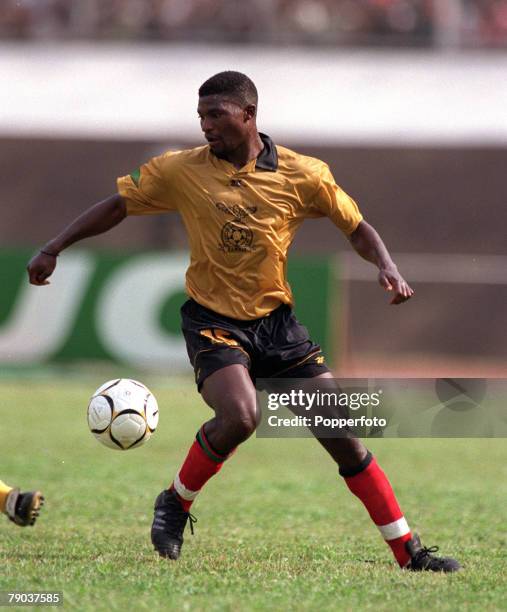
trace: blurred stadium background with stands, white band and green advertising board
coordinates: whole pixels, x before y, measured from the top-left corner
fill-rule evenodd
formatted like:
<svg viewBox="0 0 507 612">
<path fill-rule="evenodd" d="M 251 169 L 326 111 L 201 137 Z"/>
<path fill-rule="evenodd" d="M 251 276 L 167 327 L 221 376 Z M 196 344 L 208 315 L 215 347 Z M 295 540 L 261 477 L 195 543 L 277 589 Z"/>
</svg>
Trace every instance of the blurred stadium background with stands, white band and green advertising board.
<svg viewBox="0 0 507 612">
<path fill-rule="evenodd" d="M 0 0 L 0 363 L 189 372 L 176 216 L 127 219 L 24 267 L 166 148 L 202 139 L 196 92 L 224 69 L 259 126 L 326 160 L 416 297 L 390 308 L 326 220 L 292 249 L 297 313 L 347 376 L 504 376 L 507 0 Z M 128 334 L 125 333 L 128 330 Z"/>
</svg>

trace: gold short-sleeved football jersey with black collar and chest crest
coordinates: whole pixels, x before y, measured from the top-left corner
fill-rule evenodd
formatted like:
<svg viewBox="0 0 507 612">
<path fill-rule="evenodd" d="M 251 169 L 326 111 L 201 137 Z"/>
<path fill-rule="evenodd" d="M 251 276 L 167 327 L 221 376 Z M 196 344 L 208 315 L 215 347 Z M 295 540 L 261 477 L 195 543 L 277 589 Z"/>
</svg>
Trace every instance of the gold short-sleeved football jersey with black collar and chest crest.
<svg viewBox="0 0 507 612">
<path fill-rule="evenodd" d="M 205 145 L 168 151 L 118 179 L 129 215 L 179 212 L 188 295 L 241 320 L 292 304 L 287 251 L 305 219 L 327 216 L 347 235 L 362 220 L 327 164 L 261 138 L 259 157 L 239 170 Z"/>
</svg>

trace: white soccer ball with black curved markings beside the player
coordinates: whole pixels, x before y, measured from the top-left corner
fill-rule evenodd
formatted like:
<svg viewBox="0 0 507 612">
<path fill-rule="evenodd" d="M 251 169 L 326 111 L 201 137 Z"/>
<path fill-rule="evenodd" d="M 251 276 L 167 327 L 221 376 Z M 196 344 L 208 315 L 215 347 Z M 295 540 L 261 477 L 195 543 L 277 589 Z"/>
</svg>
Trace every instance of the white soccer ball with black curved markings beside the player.
<svg viewBox="0 0 507 612">
<path fill-rule="evenodd" d="M 99 442 L 116 450 L 141 446 L 157 424 L 157 400 L 145 385 L 130 378 L 104 383 L 88 405 L 90 431 Z"/>
</svg>

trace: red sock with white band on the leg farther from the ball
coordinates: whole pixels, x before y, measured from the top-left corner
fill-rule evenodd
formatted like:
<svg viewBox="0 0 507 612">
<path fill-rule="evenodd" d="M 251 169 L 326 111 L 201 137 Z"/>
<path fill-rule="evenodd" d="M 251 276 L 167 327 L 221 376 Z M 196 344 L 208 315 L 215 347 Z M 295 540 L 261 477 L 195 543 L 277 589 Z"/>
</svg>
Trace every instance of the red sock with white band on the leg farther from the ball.
<svg viewBox="0 0 507 612">
<path fill-rule="evenodd" d="M 359 471 L 358 471 L 359 470 Z M 340 470 L 348 488 L 363 502 L 396 561 L 404 567 L 410 561 L 405 542 L 412 538 L 394 491 L 375 458 L 368 453 L 356 470 Z"/>
</svg>

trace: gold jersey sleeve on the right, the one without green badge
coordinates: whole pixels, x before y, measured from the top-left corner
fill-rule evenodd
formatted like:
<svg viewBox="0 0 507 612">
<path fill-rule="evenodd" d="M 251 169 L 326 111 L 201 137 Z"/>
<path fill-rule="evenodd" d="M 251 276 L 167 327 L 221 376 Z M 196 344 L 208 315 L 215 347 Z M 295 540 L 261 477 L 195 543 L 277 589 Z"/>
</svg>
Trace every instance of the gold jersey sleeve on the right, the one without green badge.
<svg viewBox="0 0 507 612">
<path fill-rule="evenodd" d="M 336 184 L 327 164 L 320 166 L 318 178 L 312 212 L 318 217 L 329 217 L 347 236 L 352 234 L 363 220 L 357 204 Z"/>
</svg>

